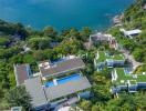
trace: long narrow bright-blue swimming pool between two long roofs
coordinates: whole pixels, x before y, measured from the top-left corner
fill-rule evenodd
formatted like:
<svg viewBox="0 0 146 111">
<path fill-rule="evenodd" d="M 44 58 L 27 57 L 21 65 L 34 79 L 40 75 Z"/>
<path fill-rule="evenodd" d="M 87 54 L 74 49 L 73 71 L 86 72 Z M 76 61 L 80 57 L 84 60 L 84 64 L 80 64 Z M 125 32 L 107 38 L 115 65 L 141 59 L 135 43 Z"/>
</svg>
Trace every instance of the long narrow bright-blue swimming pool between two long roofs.
<svg viewBox="0 0 146 111">
<path fill-rule="evenodd" d="M 80 73 L 75 73 L 75 74 L 72 74 L 72 75 L 69 75 L 69 77 L 56 80 L 56 83 L 58 84 L 63 84 L 63 83 L 66 83 L 66 82 L 70 82 L 70 81 L 79 80 L 79 79 L 81 79 Z M 53 81 L 50 81 L 50 82 L 44 83 L 44 85 L 45 87 L 54 87 L 54 83 L 53 83 Z"/>
</svg>

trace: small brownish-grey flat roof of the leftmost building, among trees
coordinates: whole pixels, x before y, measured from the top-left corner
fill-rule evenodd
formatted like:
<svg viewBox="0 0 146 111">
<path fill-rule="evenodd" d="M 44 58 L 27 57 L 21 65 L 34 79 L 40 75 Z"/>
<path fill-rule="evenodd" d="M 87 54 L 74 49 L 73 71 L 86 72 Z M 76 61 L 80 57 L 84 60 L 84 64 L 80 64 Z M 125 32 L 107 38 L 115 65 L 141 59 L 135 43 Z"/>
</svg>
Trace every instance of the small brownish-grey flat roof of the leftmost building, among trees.
<svg viewBox="0 0 146 111">
<path fill-rule="evenodd" d="M 30 65 L 29 64 L 14 65 L 14 74 L 15 74 L 17 85 L 24 83 L 24 80 L 29 79 Z"/>
</svg>

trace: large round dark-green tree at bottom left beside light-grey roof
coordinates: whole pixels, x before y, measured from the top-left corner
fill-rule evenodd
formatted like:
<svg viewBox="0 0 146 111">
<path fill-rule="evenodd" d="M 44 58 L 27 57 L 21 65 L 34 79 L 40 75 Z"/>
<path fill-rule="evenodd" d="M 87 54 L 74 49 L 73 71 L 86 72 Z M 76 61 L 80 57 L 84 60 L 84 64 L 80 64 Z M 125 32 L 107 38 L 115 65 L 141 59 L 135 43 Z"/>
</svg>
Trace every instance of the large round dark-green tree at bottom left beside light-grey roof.
<svg viewBox="0 0 146 111">
<path fill-rule="evenodd" d="M 32 109 L 31 97 L 22 85 L 11 89 L 6 94 L 6 99 L 10 107 L 22 107 L 25 111 Z"/>
</svg>

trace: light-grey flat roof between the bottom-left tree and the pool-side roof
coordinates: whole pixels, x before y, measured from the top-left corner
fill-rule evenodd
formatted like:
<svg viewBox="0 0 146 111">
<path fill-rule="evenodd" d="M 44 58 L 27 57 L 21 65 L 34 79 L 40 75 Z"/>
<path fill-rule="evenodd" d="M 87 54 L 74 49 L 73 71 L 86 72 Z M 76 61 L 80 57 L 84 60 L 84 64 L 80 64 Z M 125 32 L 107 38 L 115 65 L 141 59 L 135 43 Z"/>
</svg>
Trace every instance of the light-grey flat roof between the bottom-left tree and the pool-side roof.
<svg viewBox="0 0 146 111">
<path fill-rule="evenodd" d="M 45 93 L 41 83 L 41 78 L 32 78 L 24 81 L 25 89 L 32 98 L 33 107 L 46 104 Z"/>
</svg>

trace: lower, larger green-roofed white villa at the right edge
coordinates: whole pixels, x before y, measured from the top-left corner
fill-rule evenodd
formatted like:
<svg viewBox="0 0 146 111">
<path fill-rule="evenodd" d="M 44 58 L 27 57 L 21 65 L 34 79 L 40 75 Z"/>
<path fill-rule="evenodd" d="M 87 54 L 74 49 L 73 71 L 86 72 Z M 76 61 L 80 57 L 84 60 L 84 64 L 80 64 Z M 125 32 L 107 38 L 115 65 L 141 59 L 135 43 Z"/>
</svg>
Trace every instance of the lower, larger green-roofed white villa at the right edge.
<svg viewBox="0 0 146 111">
<path fill-rule="evenodd" d="M 121 91 L 136 92 L 146 89 L 146 73 L 132 74 L 124 68 L 115 68 L 112 72 L 112 93 Z"/>
</svg>

